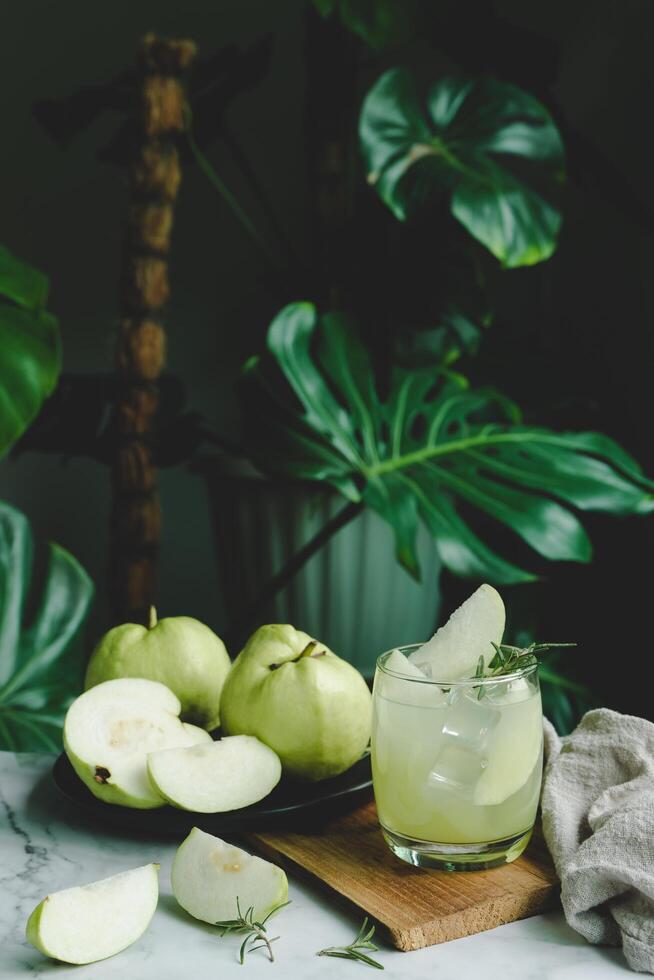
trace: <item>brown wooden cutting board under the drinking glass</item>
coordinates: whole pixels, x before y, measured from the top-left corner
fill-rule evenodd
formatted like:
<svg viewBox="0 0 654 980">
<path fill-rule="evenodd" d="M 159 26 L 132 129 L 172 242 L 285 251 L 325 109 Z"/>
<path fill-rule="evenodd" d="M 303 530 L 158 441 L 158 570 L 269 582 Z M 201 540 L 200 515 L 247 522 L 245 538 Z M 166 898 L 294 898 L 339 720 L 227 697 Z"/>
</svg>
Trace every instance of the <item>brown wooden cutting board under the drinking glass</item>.
<svg viewBox="0 0 654 980">
<path fill-rule="evenodd" d="M 558 881 L 539 831 L 513 864 L 475 872 L 424 871 L 394 857 L 374 803 L 310 833 L 247 836 L 265 857 L 308 874 L 372 916 L 402 950 L 483 932 L 558 904 Z"/>
</svg>

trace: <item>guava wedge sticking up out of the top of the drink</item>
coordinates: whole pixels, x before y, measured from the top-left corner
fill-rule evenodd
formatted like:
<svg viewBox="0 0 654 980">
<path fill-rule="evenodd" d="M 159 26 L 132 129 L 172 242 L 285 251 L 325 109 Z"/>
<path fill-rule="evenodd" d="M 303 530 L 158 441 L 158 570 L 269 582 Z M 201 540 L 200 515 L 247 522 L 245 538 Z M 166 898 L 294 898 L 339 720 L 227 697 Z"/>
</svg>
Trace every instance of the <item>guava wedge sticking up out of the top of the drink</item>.
<svg viewBox="0 0 654 980">
<path fill-rule="evenodd" d="M 481 585 L 409 660 L 436 681 L 474 677 L 480 657 L 486 667 L 493 659 L 493 643 L 502 642 L 505 619 L 499 592 Z"/>
</svg>

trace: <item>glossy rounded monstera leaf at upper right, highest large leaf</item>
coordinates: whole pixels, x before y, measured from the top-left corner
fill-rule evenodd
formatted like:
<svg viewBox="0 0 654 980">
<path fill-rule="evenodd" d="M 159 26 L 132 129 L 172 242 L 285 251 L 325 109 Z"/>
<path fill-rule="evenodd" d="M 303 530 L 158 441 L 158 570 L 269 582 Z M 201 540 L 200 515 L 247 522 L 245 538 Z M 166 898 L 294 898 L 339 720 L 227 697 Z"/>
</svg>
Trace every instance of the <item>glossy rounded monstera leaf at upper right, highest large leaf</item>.
<svg viewBox="0 0 654 980">
<path fill-rule="evenodd" d="M 368 93 L 360 136 L 369 182 L 404 220 L 447 195 L 453 216 L 506 267 L 556 248 L 561 137 L 548 111 L 515 85 L 447 77 L 423 91 L 408 70 Z"/>
</svg>

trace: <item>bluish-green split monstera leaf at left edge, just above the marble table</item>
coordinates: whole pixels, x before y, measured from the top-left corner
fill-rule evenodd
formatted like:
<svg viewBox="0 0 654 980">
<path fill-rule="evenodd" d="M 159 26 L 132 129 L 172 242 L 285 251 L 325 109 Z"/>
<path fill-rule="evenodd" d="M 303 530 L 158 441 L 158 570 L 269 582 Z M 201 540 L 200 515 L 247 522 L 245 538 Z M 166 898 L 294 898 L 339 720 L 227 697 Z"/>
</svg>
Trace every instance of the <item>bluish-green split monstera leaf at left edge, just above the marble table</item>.
<svg viewBox="0 0 654 980">
<path fill-rule="evenodd" d="M 28 614 L 32 532 L 0 503 L 0 749 L 55 751 L 63 716 L 81 688 L 75 643 L 93 585 L 81 565 L 51 544 L 40 601 Z"/>
</svg>

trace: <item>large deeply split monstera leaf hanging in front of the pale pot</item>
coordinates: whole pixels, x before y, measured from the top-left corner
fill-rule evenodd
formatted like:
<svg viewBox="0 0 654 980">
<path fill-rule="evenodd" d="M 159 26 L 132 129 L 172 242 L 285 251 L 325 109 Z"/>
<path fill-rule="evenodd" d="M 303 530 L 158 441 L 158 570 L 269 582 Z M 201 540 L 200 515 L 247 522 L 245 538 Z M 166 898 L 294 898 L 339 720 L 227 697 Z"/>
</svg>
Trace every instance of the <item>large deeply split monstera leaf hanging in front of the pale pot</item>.
<svg viewBox="0 0 654 980">
<path fill-rule="evenodd" d="M 546 559 L 587 562 L 591 543 L 575 510 L 654 509 L 654 484 L 611 439 L 525 426 L 508 399 L 470 390 L 447 369 L 396 368 L 382 398 L 343 315 L 319 318 L 311 304 L 292 304 L 271 324 L 268 351 L 243 379 L 256 461 L 372 507 L 415 576 L 420 520 L 448 568 L 499 584 L 534 575 L 489 546 L 469 512 L 505 525 Z"/>
</svg>

